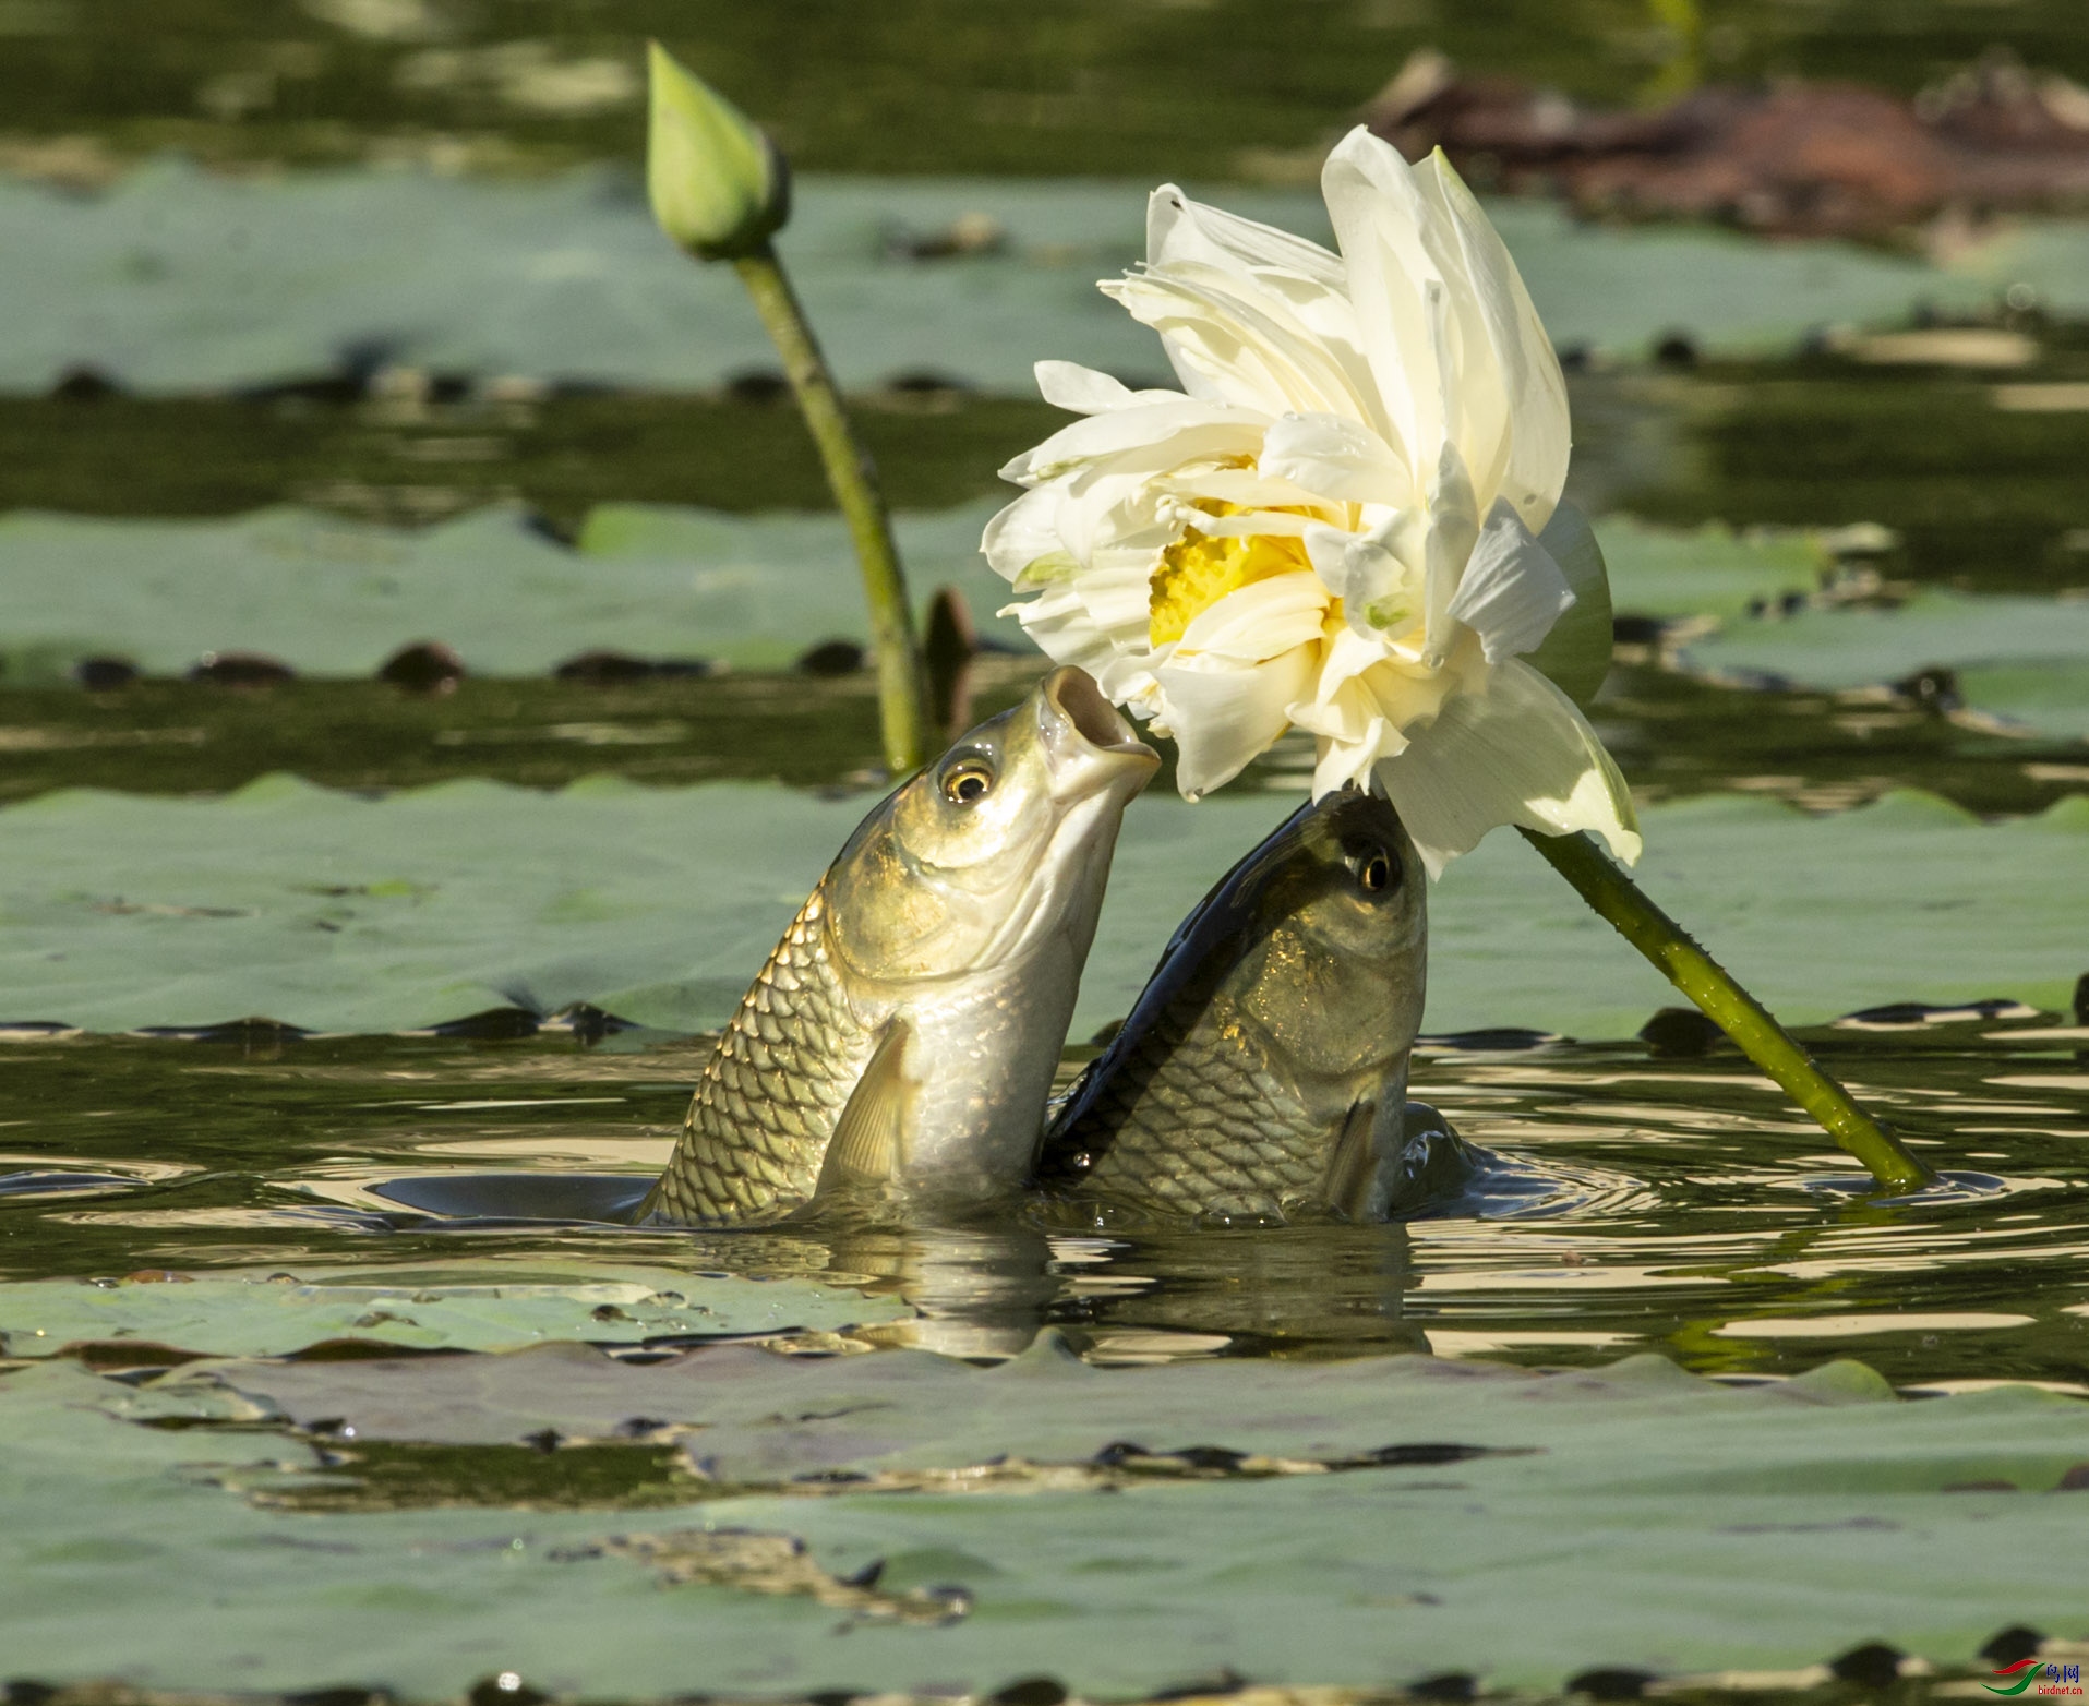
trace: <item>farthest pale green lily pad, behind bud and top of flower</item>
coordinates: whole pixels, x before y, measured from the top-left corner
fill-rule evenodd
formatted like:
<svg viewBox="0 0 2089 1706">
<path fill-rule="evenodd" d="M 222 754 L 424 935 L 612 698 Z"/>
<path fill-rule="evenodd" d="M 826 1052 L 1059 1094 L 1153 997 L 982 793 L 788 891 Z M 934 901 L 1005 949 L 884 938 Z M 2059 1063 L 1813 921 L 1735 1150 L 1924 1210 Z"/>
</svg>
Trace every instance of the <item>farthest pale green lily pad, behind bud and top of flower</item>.
<svg viewBox="0 0 2089 1706">
<path fill-rule="evenodd" d="M 1038 357 L 1161 372 L 1153 334 L 1095 292 L 1141 257 L 1149 188 L 808 173 L 781 242 L 844 384 L 940 374 L 1030 395 Z M 1312 190 L 1207 194 L 1327 240 Z M 967 217 L 1005 240 L 932 263 L 890 242 Z M 2020 248 L 1976 246 L 1945 269 L 1834 242 L 1583 226 L 1544 203 L 1498 203 L 1494 217 L 1552 338 L 1627 353 L 1675 332 L 1778 349 L 1916 305 L 1974 307 L 2026 263 Z M 2058 255 L 2079 244 L 2072 230 L 2051 238 Z M 13 390 L 77 365 L 155 393 L 343 361 L 641 388 L 777 365 L 731 271 L 689 265 L 639 186 L 604 169 L 535 184 L 397 169 L 234 180 L 161 161 L 98 196 L 0 182 L 0 294 L 15 307 L 0 336 Z"/>
</svg>

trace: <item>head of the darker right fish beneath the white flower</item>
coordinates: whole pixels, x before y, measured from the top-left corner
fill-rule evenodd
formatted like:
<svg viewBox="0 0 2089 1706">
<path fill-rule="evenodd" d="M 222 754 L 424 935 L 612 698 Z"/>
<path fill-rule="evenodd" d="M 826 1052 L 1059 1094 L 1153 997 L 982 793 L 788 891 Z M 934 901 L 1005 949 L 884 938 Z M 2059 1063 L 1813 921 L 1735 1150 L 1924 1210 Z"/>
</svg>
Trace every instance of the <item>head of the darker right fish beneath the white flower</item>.
<svg viewBox="0 0 2089 1706">
<path fill-rule="evenodd" d="M 1400 812 L 1343 789 L 1270 837 L 1247 881 L 1228 977 L 1281 1055 L 1316 1077 L 1383 1077 L 1423 1023 L 1427 871 Z"/>
</svg>

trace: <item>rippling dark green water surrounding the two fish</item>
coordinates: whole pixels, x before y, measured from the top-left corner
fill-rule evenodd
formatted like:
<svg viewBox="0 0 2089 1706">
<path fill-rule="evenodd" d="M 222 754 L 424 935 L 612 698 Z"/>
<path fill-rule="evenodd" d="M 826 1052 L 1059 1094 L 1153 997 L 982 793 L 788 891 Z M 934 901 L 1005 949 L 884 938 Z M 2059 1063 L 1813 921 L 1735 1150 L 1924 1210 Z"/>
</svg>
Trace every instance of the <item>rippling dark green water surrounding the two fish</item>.
<svg viewBox="0 0 2089 1706">
<path fill-rule="evenodd" d="M 1590 1366 L 1657 1349 L 1726 1376 L 1859 1355 L 1903 1387 L 2083 1391 L 2089 1032 L 1916 1021 L 1817 1046 L 1968 1182 L 1863 1201 L 1847 1159 L 1732 1055 L 1433 1048 L 1416 1094 L 1535 1169 L 1477 1213 L 689 1234 L 587 1222 L 629 1199 L 602 1176 L 637 1188 L 664 1163 L 700 1044 L 21 1040 L 0 1080 L 0 1272 L 585 1255 L 896 1295 L 919 1320 L 867 1343 L 971 1355 L 1057 1326 L 1101 1361 L 1433 1349 Z"/>
</svg>

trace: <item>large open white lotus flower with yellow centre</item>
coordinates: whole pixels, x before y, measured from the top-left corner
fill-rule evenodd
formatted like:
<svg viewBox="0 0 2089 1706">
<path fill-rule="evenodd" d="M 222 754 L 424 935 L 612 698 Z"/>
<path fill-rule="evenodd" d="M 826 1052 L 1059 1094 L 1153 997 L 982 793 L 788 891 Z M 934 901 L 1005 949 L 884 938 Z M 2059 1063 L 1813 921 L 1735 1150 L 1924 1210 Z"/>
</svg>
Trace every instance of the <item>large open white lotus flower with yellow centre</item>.
<svg viewBox="0 0 2089 1706">
<path fill-rule="evenodd" d="M 1003 470 L 1030 491 L 982 549 L 1051 658 L 1174 737 L 1189 798 L 1297 727 L 1314 796 L 1375 783 L 1433 873 L 1500 823 L 1636 860 L 1558 685 L 1602 681 L 1609 589 L 1515 261 L 1441 152 L 1356 129 L 1320 184 L 1339 255 L 1155 190 L 1147 265 L 1103 290 L 1182 390 L 1040 361 L 1086 420 Z"/>
</svg>

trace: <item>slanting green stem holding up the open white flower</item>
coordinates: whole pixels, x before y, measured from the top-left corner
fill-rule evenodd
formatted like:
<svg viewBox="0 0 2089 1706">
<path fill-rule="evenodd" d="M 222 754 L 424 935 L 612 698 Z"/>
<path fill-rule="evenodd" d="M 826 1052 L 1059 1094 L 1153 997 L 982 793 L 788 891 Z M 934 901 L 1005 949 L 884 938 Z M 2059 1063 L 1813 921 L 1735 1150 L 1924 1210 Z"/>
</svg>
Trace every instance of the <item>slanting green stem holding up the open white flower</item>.
<svg viewBox="0 0 2089 1706">
<path fill-rule="evenodd" d="M 1675 919 L 1654 906 L 1594 839 L 1588 835 L 1535 835 L 1529 829 L 1523 831 L 1523 839 L 1538 848 L 1604 923 L 1646 954 L 1677 990 L 1740 1044 L 1742 1055 L 1769 1073 L 1886 1190 L 1905 1192 L 1928 1184 L 1930 1169 L 1859 1109 L 1849 1098 L 1849 1090 L 1813 1065 L 1813 1059 L 1792 1042 L 1784 1025 L 1771 1019 L 1755 996 L 1692 942 Z"/>
</svg>

